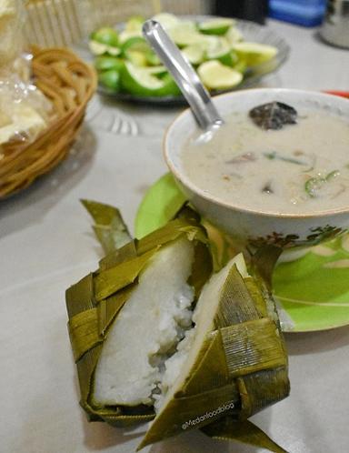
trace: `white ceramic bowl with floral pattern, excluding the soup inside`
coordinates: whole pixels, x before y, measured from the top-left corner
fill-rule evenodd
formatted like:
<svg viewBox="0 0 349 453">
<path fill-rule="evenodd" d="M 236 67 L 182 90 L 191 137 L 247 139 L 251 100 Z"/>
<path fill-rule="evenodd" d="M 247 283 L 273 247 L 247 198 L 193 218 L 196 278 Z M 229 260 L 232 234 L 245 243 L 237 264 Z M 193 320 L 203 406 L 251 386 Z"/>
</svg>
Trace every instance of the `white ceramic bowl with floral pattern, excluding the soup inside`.
<svg viewBox="0 0 349 453">
<path fill-rule="evenodd" d="M 223 118 L 231 112 L 248 112 L 266 102 L 284 102 L 295 109 L 314 109 L 347 117 L 349 101 L 339 96 L 284 88 L 249 89 L 214 97 Z M 311 246 L 343 233 L 349 227 L 348 206 L 331 211 L 302 215 L 270 213 L 224 203 L 194 186 L 184 174 L 181 151 L 185 141 L 197 130 L 190 109 L 178 116 L 165 134 L 165 161 L 192 205 L 206 219 L 225 232 L 254 247 L 273 243 L 282 247 Z M 329 150 L 329 152 L 331 152 Z M 349 160 L 349 149 L 348 149 Z"/>
</svg>

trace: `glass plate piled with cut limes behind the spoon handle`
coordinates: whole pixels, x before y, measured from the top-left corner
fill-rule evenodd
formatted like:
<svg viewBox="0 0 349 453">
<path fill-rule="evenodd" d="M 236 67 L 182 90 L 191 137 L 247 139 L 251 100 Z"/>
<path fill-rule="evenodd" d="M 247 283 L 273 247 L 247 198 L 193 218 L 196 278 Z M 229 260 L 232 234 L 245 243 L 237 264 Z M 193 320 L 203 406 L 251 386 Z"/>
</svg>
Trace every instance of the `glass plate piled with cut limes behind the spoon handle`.
<svg viewBox="0 0 349 453">
<path fill-rule="evenodd" d="M 253 86 L 286 60 L 289 46 L 267 27 L 228 17 L 153 17 L 164 26 L 212 95 Z M 152 104 L 184 103 L 178 86 L 142 35 L 142 17 L 89 36 L 99 92 Z"/>
</svg>

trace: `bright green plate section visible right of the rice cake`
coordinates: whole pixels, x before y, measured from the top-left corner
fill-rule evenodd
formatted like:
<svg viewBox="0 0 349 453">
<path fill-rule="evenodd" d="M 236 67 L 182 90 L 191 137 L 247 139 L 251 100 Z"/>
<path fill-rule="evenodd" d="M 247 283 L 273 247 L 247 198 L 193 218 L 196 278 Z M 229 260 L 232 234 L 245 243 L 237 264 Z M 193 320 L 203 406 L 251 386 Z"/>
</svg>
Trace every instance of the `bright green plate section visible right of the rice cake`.
<svg viewBox="0 0 349 453">
<path fill-rule="evenodd" d="M 293 321 L 286 330 L 349 324 L 349 235 L 337 237 L 274 272 L 274 296 Z"/>
</svg>

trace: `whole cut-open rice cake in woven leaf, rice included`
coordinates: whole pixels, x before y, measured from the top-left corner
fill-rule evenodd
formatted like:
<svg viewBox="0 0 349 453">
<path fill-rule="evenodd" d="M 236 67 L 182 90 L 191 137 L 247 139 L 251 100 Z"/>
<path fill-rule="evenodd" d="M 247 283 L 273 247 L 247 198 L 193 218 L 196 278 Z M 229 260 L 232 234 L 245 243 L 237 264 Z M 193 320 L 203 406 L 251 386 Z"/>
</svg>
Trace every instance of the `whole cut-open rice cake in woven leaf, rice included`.
<svg viewBox="0 0 349 453">
<path fill-rule="evenodd" d="M 248 419 L 289 394 L 268 260 L 246 267 L 238 254 L 217 267 L 216 247 L 187 206 L 137 240 L 115 207 L 84 205 L 105 250 L 99 267 L 66 290 L 88 418 L 147 422 L 139 449 L 201 429 L 284 452 Z"/>
</svg>

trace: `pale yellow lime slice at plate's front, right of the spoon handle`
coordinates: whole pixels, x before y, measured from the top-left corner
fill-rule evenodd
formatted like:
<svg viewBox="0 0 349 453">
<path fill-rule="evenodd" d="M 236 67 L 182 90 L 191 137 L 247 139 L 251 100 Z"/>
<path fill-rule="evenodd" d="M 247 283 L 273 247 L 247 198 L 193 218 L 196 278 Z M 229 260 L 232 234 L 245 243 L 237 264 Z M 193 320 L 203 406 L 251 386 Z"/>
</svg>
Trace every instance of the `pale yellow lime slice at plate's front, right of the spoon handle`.
<svg viewBox="0 0 349 453">
<path fill-rule="evenodd" d="M 224 90 L 239 85 L 243 80 L 240 72 L 217 60 L 206 61 L 197 68 L 197 73 L 208 89 Z"/>
</svg>

